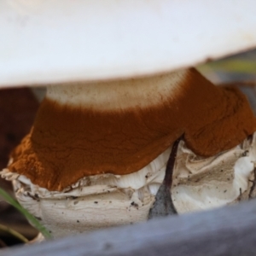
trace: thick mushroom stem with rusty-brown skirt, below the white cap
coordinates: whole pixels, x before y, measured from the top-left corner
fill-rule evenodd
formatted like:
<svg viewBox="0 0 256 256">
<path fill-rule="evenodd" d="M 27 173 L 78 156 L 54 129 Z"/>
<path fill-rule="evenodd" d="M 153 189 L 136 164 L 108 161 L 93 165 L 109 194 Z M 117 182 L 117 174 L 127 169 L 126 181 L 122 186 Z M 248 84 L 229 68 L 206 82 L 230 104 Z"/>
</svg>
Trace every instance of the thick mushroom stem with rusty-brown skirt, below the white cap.
<svg viewBox="0 0 256 256">
<path fill-rule="evenodd" d="M 32 131 L 1 175 L 59 237 L 246 198 L 253 131 L 246 97 L 195 69 L 49 85 Z"/>
</svg>

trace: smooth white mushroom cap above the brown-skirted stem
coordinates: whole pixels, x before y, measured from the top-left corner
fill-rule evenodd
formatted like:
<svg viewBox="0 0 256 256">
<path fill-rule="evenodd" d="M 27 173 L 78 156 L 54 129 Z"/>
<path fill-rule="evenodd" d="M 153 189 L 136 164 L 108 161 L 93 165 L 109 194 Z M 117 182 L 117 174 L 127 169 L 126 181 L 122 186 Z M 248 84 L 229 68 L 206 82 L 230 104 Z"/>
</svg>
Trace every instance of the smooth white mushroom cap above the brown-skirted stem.
<svg viewBox="0 0 256 256">
<path fill-rule="evenodd" d="M 164 73 L 256 44 L 254 0 L 0 3 L 1 86 Z"/>
</svg>

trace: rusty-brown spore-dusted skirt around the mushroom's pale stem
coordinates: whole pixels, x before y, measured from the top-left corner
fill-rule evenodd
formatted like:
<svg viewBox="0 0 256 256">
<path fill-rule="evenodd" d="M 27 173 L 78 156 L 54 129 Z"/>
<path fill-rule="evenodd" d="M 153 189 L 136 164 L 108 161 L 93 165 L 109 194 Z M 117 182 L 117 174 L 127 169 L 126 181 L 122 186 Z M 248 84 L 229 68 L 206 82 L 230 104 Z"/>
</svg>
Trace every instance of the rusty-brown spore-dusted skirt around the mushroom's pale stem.
<svg viewBox="0 0 256 256">
<path fill-rule="evenodd" d="M 195 154 L 211 156 L 253 131 L 256 119 L 239 90 L 215 86 L 190 69 L 175 96 L 144 108 L 83 108 L 46 97 L 12 152 L 9 171 L 61 191 L 85 176 L 137 172 L 181 135 Z"/>
</svg>

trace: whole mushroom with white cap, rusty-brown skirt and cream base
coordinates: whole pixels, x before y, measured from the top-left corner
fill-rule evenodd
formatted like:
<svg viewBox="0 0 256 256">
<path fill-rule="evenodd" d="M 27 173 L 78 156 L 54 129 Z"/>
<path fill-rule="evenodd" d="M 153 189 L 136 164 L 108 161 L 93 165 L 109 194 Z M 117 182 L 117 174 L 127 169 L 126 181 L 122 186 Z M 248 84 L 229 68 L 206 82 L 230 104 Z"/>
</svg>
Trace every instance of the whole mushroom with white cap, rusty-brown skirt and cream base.
<svg viewBox="0 0 256 256">
<path fill-rule="evenodd" d="M 241 3 L 217 2 L 229 9 L 226 15 L 234 21 Z M 20 204 L 54 237 L 147 220 L 165 179 L 172 144 L 179 137 L 169 188 L 178 213 L 253 195 L 249 179 L 254 175 L 256 120 L 246 97 L 236 88 L 217 87 L 188 68 L 209 54 L 217 58 L 256 44 L 251 1 L 242 3 L 248 12 L 239 26 L 230 28 L 230 21 L 219 16 L 218 22 L 224 24 L 211 31 L 218 39 L 229 28 L 229 35 L 237 37 L 229 47 L 217 39 L 211 46 L 206 30 L 222 11 L 216 1 L 204 6 L 191 1 L 206 22 L 195 19 L 189 25 L 184 16 L 176 15 L 183 6 L 175 1 L 158 2 L 159 14 L 147 1 L 133 3 L 132 9 L 126 1 L 109 6 L 101 2 L 100 9 L 93 1 L 56 1 L 59 9 L 54 15 L 49 1 L 9 3 L 0 3 L 5 21 L 0 26 L 11 29 L 2 45 L 6 47 L 17 29 L 20 45 L 31 52 L 18 46 L 9 53 L 0 82 L 47 84 L 47 94 L 31 132 L 12 152 L 1 175 L 13 181 Z M 186 12 L 194 17 L 191 10 Z M 26 19 L 6 23 L 12 15 Z M 132 26 L 137 15 L 141 23 Z M 108 22 L 103 22 L 104 17 Z M 145 29 L 148 19 L 153 38 Z M 184 47 L 183 28 L 189 31 L 196 24 L 202 26 L 191 35 L 191 46 Z M 241 37 L 240 26 L 250 39 Z M 26 45 L 25 39 L 39 29 L 43 34 Z M 58 40 L 56 45 L 54 32 L 67 41 Z M 82 32 L 86 36 L 80 38 Z M 200 32 L 207 36 L 198 44 L 195 38 Z M 106 44 L 98 43 L 100 36 Z M 157 43 L 161 48 L 155 50 Z M 204 45 L 200 53 L 197 44 Z M 42 65 L 45 57 L 49 65 Z"/>
</svg>

